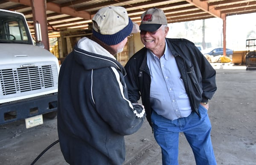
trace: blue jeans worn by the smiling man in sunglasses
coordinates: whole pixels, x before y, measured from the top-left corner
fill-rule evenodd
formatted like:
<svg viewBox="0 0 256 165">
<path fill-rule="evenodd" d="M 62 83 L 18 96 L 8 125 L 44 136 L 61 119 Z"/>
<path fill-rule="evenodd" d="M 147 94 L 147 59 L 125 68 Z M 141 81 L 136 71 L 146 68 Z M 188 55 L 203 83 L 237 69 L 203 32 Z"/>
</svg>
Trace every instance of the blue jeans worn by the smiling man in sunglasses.
<svg viewBox="0 0 256 165">
<path fill-rule="evenodd" d="M 152 112 L 154 138 L 162 149 L 163 165 L 178 165 L 179 132 L 192 148 L 197 165 L 216 165 L 210 137 L 211 123 L 207 109 L 199 106 L 201 118 L 192 112 L 188 117 L 169 120 Z"/>
</svg>

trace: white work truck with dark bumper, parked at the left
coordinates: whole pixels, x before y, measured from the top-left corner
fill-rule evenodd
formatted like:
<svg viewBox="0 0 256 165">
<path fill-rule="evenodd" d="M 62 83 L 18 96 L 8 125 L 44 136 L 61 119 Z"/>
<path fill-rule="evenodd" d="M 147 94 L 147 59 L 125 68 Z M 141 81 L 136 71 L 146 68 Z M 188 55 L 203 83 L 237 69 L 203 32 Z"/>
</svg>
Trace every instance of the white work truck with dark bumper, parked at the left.
<svg viewBox="0 0 256 165">
<path fill-rule="evenodd" d="M 36 41 L 22 13 L 0 9 L 0 125 L 25 119 L 30 128 L 57 115 L 58 59 Z"/>
</svg>

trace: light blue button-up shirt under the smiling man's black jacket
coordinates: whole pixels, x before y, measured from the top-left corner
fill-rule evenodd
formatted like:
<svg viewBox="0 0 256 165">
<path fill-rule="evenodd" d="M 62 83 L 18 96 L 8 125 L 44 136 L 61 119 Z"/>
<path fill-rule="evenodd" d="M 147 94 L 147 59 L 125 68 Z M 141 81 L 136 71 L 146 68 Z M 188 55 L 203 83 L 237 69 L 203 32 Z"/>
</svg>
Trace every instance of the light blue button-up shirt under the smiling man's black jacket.
<svg viewBox="0 0 256 165">
<path fill-rule="evenodd" d="M 169 48 L 166 47 L 160 59 L 148 50 L 147 64 L 151 75 L 151 108 L 169 120 L 189 116 L 192 112 L 189 97 Z"/>
</svg>

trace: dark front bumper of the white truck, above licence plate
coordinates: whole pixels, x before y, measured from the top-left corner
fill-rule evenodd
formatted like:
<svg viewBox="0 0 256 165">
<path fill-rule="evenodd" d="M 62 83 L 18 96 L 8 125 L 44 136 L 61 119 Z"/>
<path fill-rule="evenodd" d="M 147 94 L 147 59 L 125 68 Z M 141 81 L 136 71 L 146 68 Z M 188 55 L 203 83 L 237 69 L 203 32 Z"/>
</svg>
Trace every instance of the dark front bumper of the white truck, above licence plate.
<svg viewBox="0 0 256 165">
<path fill-rule="evenodd" d="M 57 110 L 58 93 L 0 104 L 0 125 Z"/>
</svg>

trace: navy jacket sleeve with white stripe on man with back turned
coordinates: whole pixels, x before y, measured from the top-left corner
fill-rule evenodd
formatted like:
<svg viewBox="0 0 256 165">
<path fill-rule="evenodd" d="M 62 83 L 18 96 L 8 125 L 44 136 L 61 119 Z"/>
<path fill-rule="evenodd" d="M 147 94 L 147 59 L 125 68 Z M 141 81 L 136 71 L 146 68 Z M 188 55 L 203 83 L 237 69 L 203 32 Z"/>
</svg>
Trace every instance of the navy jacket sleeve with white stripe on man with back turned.
<svg viewBox="0 0 256 165">
<path fill-rule="evenodd" d="M 145 109 L 128 100 L 122 74 L 113 67 L 107 67 L 93 70 L 92 76 L 92 98 L 102 119 L 119 134 L 136 132 L 144 121 Z"/>
</svg>

